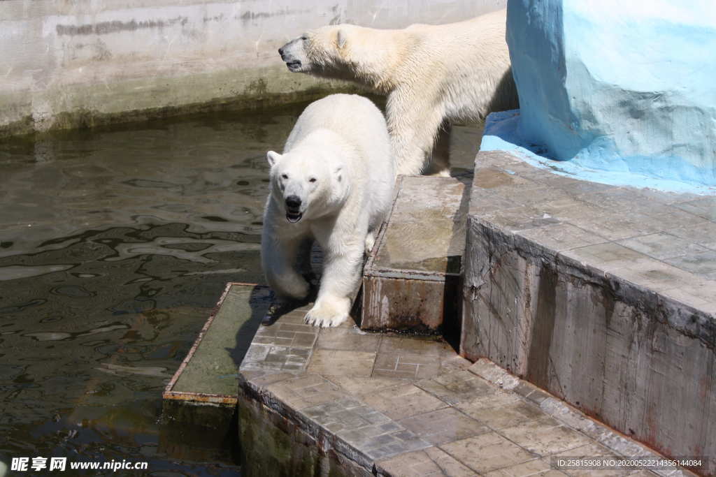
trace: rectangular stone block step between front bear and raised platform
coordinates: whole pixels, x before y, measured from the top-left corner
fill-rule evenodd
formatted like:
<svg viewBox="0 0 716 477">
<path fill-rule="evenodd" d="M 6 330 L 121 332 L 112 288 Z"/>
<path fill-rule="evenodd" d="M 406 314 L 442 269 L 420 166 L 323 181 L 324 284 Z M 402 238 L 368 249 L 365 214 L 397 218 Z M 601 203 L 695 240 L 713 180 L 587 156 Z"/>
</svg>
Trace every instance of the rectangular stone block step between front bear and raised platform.
<svg viewBox="0 0 716 477">
<path fill-rule="evenodd" d="M 459 330 L 465 191 L 452 177 L 399 177 L 363 271 L 362 329 Z"/>
</svg>

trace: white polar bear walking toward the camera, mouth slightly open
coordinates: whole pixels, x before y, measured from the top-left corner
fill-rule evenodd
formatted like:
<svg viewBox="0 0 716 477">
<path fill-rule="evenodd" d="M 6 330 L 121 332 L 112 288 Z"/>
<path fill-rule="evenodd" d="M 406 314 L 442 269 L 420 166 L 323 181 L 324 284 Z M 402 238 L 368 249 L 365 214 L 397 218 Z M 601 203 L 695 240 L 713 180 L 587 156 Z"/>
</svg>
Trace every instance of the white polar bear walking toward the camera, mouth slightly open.
<svg viewBox="0 0 716 477">
<path fill-rule="evenodd" d="M 306 323 L 337 326 L 348 318 L 363 254 L 393 197 L 395 161 L 382 113 L 364 97 L 333 94 L 309 104 L 286 140 L 269 151 L 261 261 L 279 299 L 301 300 L 309 284 L 301 263 L 316 240 L 324 256 L 316 303 Z"/>
</svg>

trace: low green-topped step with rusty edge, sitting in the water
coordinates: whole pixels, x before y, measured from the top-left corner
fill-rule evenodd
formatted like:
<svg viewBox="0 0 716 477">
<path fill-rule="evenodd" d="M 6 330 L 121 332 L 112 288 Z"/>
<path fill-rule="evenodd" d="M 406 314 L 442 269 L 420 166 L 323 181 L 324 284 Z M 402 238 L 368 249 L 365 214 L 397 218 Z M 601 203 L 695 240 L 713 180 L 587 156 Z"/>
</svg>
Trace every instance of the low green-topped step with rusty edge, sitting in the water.
<svg viewBox="0 0 716 477">
<path fill-rule="evenodd" d="M 270 290 L 229 283 L 163 393 L 160 447 L 175 458 L 236 461 L 236 380 Z"/>
</svg>

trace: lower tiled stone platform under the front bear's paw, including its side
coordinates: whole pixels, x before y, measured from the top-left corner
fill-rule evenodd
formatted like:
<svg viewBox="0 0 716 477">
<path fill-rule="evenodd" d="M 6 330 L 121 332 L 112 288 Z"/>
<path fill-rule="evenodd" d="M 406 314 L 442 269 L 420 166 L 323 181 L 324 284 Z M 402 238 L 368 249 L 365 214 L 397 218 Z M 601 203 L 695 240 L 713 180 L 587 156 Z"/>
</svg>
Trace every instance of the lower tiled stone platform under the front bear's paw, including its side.
<svg viewBox="0 0 716 477">
<path fill-rule="evenodd" d="M 554 456 L 654 456 L 486 360 L 442 341 L 304 325 L 262 327 L 241 363 L 242 473 L 591 475 Z M 680 475 L 661 471 L 660 475 Z M 647 471 L 594 475 L 654 475 Z"/>
</svg>

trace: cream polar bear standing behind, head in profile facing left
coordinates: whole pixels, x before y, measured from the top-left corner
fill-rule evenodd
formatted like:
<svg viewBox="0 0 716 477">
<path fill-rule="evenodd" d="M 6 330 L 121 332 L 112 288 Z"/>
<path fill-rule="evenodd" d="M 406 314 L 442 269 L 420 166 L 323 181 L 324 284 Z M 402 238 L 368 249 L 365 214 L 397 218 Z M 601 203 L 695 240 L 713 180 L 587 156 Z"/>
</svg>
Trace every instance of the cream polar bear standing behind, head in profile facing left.
<svg viewBox="0 0 716 477">
<path fill-rule="evenodd" d="M 387 94 L 398 174 L 449 175 L 450 122 L 518 107 L 505 10 L 399 30 L 324 26 L 279 54 L 291 72 L 349 79 Z"/>
</svg>

